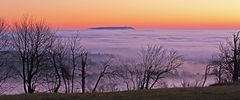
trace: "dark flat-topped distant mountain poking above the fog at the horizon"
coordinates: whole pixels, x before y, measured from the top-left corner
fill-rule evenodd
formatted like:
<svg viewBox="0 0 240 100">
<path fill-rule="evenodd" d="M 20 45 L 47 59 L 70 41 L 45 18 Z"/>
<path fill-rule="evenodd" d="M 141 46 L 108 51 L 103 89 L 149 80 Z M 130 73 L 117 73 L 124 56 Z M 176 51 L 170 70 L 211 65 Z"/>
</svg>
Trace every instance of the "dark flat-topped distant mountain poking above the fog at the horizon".
<svg viewBox="0 0 240 100">
<path fill-rule="evenodd" d="M 134 30 L 133 27 L 127 27 L 127 26 L 117 26 L 117 27 L 93 27 L 88 28 L 92 30 Z"/>
</svg>

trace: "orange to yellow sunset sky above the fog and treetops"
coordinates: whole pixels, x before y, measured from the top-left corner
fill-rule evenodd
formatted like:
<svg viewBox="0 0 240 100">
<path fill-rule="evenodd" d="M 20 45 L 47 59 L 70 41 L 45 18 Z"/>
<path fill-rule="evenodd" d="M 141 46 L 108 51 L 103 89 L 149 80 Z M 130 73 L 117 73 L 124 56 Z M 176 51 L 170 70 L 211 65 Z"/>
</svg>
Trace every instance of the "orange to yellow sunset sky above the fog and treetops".
<svg viewBox="0 0 240 100">
<path fill-rule="evenodd" d="M 55 28 L 240 28 L 240 0 L 0 0 L 0 17 L 24 14 Z"/>
</svg>

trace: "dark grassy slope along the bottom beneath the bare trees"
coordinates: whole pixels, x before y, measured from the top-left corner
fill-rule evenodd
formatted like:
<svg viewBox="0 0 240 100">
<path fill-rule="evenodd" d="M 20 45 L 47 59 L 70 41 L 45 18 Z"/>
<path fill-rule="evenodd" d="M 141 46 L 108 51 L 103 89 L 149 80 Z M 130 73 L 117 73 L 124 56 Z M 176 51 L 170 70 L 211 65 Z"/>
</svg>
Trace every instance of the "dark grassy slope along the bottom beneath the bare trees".
<svg viewBox="0 0 240 100">
<path fill-rule="evenodd" d="M 1 96 L 0 100 L 240 100 L 240 86 L 96 94 L 29 94 Z"/>
</svg>

